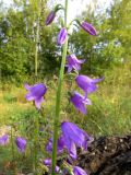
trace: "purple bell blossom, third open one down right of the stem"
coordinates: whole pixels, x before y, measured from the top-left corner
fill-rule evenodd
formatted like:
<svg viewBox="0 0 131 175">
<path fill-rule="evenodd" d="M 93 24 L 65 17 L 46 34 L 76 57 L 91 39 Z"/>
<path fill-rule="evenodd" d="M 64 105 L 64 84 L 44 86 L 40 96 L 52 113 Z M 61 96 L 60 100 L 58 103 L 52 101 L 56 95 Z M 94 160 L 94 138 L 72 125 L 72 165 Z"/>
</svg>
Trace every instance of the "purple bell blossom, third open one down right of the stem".
<svg viewBox="0 0 131 175">
<path fill-rule="evenodd" d="M 92 105 L 92 102 L 87 97 L 81 95 L 78 92 L 73 93 L 70 101 L 74 107 L 84 115 L 87 113 L 85 105 Z"/>
</svg>

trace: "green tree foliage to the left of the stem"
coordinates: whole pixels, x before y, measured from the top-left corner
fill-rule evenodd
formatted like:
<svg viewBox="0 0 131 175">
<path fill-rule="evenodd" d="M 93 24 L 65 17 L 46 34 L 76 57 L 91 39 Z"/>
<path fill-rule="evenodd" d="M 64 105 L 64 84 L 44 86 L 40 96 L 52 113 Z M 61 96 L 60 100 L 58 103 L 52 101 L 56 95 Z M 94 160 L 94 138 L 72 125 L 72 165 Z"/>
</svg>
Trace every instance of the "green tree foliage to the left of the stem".
<svg viewBox="0 0 131 175">
<path fill-rule="evenodd" d="M 50 66 L 53 71 L 59 65 L 57 48 L 49 42 L 55 34 L 51 32 L 52 28 L 45 28 L 46 1 L 40 4 L 40 31 L 36 43 L 39 3 L 40 1 L 37 3 L 29 1 L 29 4 L 24 0 L 14 1 L 13 8 L 8 9 L 5 15 L 1 7 L 0 69 L 3 80 L 17 83 L 25 80 L 25 77 L 33 77 L 36 47 L 39 57 L 38 72 L 50 73 Z"/>
</svg>

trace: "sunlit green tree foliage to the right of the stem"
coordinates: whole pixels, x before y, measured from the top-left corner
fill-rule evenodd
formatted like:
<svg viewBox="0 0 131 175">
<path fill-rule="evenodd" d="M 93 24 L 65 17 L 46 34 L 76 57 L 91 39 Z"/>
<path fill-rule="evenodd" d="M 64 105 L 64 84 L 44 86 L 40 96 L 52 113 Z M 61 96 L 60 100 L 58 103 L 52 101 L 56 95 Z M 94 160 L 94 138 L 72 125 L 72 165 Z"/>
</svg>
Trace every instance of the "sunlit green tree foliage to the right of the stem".
<svg viewBox="0 0 131 175">
<path fill-rule="evenodd" d="M 81 58 L 86 59 L 84 72 L 102 74 L 107 69 L 130 59 L 130 0 L 116 0 L 106 12 L 100 9 L 90 10 L 90 7 L 79 16 L 92 23 L 98 31 L 97 38 L 86 36 L 82 30 L 73 32 L 72 49 Z"/>
</svg>

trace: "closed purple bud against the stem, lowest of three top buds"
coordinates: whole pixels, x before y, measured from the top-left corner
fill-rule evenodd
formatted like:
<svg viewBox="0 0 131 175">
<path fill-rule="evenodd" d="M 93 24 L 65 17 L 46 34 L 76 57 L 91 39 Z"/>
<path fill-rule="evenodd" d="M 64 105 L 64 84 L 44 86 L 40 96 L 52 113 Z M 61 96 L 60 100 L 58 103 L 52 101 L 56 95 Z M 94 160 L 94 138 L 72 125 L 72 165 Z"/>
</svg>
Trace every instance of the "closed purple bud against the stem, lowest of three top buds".
<svg viewBox="0 0 131 175">
<path fill-rule="evenodd" d="M 68 36 L 68 32 L 67 30 L 63 27 L 60 30 L 59 34 L 58 34 L 58 37 L 57 37 L 57 44 L 59 46 L 63 45 L 66 43 L 66 38 Z"/>
</svg>

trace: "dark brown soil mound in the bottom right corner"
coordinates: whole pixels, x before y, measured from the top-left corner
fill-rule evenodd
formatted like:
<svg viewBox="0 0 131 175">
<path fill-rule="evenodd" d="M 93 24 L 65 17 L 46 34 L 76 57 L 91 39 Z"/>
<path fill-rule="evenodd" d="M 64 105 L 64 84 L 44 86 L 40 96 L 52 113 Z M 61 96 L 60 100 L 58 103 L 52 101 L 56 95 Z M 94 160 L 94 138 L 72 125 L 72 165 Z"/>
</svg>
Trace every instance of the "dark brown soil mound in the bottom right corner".
<svg viewBox="0 0 131 175">
<path fill-rule="evenodd" d="M 131 175 L 131 136 L 95 139 L 76 165 L 87 175 Z"/>
</svg>

